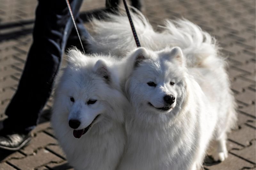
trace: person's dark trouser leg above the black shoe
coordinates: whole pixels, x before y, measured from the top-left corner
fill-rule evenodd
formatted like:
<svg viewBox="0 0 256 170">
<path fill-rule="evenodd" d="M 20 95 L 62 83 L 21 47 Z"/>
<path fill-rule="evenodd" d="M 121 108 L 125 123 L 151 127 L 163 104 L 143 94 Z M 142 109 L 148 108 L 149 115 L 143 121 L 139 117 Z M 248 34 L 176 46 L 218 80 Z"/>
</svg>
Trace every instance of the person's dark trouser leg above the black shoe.
<svg viewBox="0 0 256 170">
<path fill-rule="evenodd" d="M 78 11 L 82 0 L 69 2 L 74 18 L 81 21 Z M 87 33 L 82 22 L 78 22 L 77 27 L 80 34 Z M 35 127 L 38 114 L 51 94 L 68 38 L 76 36 L 70 35 L 72 29 L 65 0 L 38 1 L 33 43 L 17 91 L 5 111 L 8 118 L 3 122 L 4 128 L 28 132 Z"/>
</svg>

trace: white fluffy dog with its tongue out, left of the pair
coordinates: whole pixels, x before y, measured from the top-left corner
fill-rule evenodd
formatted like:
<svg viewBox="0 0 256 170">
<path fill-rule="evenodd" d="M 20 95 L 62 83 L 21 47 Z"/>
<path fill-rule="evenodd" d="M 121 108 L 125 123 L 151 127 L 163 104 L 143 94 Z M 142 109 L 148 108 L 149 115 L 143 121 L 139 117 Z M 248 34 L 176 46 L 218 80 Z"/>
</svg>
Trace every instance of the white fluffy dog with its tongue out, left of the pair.
<svg viewBox="0 0 256 170">
<path fill-rule="evenodd" d="M 52 127 L 75 169 L 114 170 L 125 144 L 124 111 L 129 106 L 118 79 L 118 61 L 68 53 L 52 108 Z"/>
</svg>

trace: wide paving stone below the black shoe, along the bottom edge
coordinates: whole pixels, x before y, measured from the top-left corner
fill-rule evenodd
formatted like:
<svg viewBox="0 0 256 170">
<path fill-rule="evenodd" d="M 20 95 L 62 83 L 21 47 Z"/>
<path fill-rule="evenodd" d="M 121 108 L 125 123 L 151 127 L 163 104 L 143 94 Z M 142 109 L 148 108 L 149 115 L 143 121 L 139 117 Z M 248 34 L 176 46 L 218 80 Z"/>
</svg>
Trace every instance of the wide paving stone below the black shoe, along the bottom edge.
<svg viewBox="0 0 256 170">
<path fill-rule="evenodd" d="M 35 167 L 43 166 L 50 162 L 61 162 L 61 158 L 52 154 L 51 152 L 41 149 L 35 154 L 29 155 L 23 159 L 12 159 L 8 161 L 10 164 L 18 167 L 19 169 L 32 170 Z"/>
</svg>

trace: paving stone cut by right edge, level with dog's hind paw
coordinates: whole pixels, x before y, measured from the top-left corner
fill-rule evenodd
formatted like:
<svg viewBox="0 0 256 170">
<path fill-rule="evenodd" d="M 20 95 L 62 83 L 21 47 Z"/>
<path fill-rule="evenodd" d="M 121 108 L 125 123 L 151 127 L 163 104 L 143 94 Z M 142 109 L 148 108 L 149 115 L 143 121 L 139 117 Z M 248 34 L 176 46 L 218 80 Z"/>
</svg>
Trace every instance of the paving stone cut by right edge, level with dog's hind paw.
<svg viewBox="0 0 256 170">
<path fill-rule="evenodd" d="M 253 140 L 251 142 L 251 145 L 248 146 L 248 147 L 245 147 L 244 149 L 241 149 L 241 150 L 231 150 L 230 152 L 231 153 L 234 153 L 246 160 L 249 160 L 251 161 L 252 163 L 255 164 L 255 152 L 251 152 L 251 151 L 256 151 L 256 148 L 255 148 L 255 140 Z"/>
</svg>

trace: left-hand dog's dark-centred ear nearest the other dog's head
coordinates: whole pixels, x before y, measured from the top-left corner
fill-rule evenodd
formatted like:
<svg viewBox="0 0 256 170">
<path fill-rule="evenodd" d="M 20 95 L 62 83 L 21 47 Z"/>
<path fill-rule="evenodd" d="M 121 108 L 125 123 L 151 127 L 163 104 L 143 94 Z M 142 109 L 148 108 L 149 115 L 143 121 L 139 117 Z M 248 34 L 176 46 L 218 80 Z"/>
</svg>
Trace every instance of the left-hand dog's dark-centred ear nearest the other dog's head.
<svg viewBox="0 0 256 170">
<path fill-rule="evenodd" d="M 98 60 L 93 68 L 94 72 L 101 76 L 102 78 L 105 78 L 106 80 L 110 80 L 110 72 L 108 70 L 108 65 L 104 60 Z"/>
</svg>

